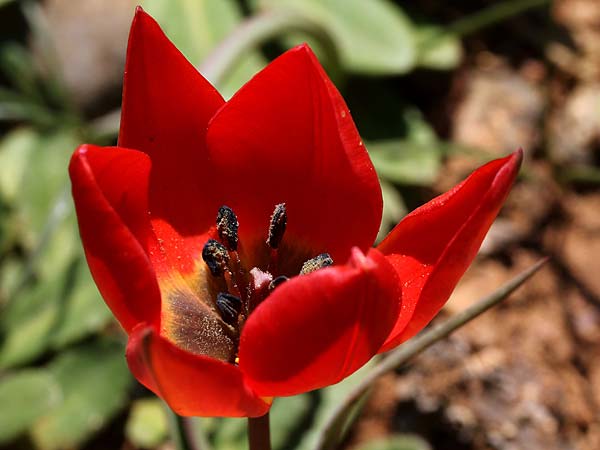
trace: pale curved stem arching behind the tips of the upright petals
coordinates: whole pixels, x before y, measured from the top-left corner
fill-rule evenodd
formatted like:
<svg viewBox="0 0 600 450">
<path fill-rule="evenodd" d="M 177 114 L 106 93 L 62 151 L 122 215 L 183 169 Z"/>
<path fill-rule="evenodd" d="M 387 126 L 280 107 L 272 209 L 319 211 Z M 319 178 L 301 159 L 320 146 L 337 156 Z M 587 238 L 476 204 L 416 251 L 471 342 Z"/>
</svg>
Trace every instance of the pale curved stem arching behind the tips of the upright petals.
<svg viewBox="0 0 600 450">
<path fill-rule="evenodd" d="M 242 22 L 200 65 L 200 72 L 219 86 L 231 69 L 248 51 L 289 31 L 300 31 L 315 37 L 326 57 L 337 62 L 336 45 L 318 22 L 294 10 L 265 11 Z"/>
</svg>

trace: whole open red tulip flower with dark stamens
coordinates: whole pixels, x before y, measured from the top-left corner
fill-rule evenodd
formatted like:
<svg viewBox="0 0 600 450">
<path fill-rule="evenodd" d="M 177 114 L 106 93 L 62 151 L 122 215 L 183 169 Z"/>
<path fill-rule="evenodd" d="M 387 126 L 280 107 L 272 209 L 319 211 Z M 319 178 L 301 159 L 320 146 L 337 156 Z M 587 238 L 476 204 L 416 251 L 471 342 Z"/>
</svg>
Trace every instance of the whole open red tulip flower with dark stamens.
<svg viewBox="0 0 600 450">
<path fill-rule="evenodd" d="M 260 416 L 422 329 L 473 260 L 516 152 L 377 247 L 377 174 L 306 45 L 219 93 L 138 9 L 117 147 L 70 164 L 92 275 L 135 377 L 177 413 Z"/>
</svg>

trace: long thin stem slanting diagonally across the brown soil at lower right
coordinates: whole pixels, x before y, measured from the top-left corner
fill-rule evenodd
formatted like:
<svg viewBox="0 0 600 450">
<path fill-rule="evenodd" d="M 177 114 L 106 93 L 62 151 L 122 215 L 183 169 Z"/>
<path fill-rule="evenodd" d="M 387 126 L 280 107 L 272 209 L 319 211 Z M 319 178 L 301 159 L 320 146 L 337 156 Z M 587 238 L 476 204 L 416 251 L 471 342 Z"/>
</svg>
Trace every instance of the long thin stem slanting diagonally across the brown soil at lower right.
<svg viewBox="0 0 600 450">
<path fill-rule="evenodd" d="M 538 261 L 529 269 L 520 273 L 512 280 L 501 286 L 491 295 L 482 298 L 464 311 L 454 315 L 440 325 L 421 333 L 419 336 L 408 341 L 403 346 L 398 347 L 396 350 L 388 353 L 388 356 L 384 357 L 383 360 L 377 366 L 375 366 L 375 368 L 371 370 L 371 372 L 369 372 L 352 391 L 350 391 L 348 396 L 346 396 L 342 402 L 337 405 L 336 409 L 325 423 L 322 431 L 319 433 L 319 438 L 315 449 L 331 449 L 335 446 L 335 444 L 337 444 L 337 442 L 339 442 L 341 436 L 338 436 L 336 431 L 344 428 L 344 424 L 347 422 L 347 418 L 349 413 L 352 411 L 354 404 L 360 400 L 361 397 L 363 397 L 373 382 L 375 382 L 380 376 L 402 366 L 414 356 L 421 353 L 423 350 L 445 338 L 456 329 L 462 327 L 467 322 L 473 320 L 475 317 L 490 309 L 492 306 L 500 303 L 525 281 L 527 281 L 533 274 L 535 274 L 547 261 L 548 258 Z"/>
</svg>

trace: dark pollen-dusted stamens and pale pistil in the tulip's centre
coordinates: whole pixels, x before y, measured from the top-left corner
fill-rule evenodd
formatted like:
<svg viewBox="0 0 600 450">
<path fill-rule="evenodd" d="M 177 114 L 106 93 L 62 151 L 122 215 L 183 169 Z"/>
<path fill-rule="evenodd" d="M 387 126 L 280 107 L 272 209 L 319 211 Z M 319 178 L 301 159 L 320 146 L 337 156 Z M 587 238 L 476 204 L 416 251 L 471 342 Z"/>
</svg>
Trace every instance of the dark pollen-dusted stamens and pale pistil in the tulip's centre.
<svg viewBox="0 0 600 450">
<path fill-rule="evenodd" d="M 236 214 L 228 206 L 221 206 L 217 214 L 217 239 L 209 239 L 202 249 L 204 260 L 210 276 L 219 281 L 226 290 L 217 293 L 214 307 L 223 322 L 227 324 L 239 339 L 244 322 L 250 313 L 278 286 L 288 280 L 288 275 L 281 273 L 280 245 L 284 239 L 287 226 L 285 203 L 275 205 L 269 228 L 266 233 L 266 244 L 270 250 L 265 267 L 252 267 L 247 270 L 240 260 L 239 222 Z M 322 253 L 305 261 L 298 275 L 306 275 L 315 270 L 333 264 L 331 256 Z"/>
</svg>

